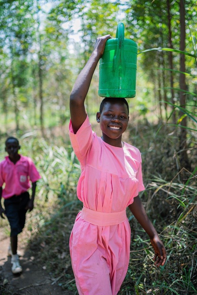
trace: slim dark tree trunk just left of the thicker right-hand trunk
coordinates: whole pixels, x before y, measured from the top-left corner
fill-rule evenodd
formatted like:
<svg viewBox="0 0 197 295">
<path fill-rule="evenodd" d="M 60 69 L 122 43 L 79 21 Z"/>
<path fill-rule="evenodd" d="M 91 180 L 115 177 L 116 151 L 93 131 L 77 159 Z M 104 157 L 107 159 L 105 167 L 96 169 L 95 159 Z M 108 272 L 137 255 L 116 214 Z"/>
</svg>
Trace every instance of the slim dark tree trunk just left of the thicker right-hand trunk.
<svg viewBox="0 0 197 295">
<path fill-rule="evenodd" d="M 173 49 L 172 46 L 172 30 L 171 30 L 171 14 L 170 14 L 170 0 L 167 0 L 167 13 L 168 13 L 168 42 L 169 47 Z M 173 59 L 172 59 L 172 51 L 169 51 L 169 65 L 170 69 L 173 70 Z M 170 87 L 171 87 L 171 103 L 174 104 L 174 81 L 173 81 L 173 72 L 170 71 Z M 176 113 L 175 108 L 172 106 L 172 123 L 176 124 Z"/>
</svg>

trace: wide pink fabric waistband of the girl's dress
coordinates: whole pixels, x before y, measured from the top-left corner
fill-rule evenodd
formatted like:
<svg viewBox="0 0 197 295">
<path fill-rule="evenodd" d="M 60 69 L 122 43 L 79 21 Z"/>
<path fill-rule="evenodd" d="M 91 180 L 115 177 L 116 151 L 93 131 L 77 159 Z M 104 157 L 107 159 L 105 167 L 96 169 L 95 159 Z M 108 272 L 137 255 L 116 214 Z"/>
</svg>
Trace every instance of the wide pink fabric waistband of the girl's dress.
<svg viewBox="0 0 197 295">
<path fill-rule="evenodd" d="M 99 226 L 119 224 L 127 219 L 126 209 L 120 212 L 105 213 L 83 207 L 81 216 L 85 221 Z"/>
</svg>

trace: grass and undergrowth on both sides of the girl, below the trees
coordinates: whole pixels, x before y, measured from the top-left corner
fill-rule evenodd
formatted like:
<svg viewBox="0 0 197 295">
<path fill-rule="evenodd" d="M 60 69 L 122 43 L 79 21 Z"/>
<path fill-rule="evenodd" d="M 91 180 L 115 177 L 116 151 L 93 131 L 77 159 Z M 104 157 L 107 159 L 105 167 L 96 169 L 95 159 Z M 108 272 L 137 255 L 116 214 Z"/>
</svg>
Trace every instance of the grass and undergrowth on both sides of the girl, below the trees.
<svg viewBox="0 0 197 295">
<path fill-rule="evenodd" d="M 131 256 L 120 295 L 196 294 L 196 150 L 188 135 L 191 171 L 178 168 L 175 134 L 170 126 L 146 120 L 129 125 L 127 140 L 139 147 L 146 190 L 140 197 L 167 250 L 167 263 L 156 268 L 153 249 L 140 225 L 128 212 L 131 224 Z M 169 134 L 172 134 L 169 136 Z M 36 206 L 27 219 L 28 247 L 40 265 L 61 278 L 62 289 L 78 294 L 71 268 L 69 236 L 82 203 L 76 197 L 79 163 L 69 140 L 55 142 L 38 135 L 21 139 L 22 154 L 29 155 L 41 173 Z M 0 156 L 4 156 L 3 144 Z M 1 226 L 3 225 L 1 221 Z"/>
</svg>

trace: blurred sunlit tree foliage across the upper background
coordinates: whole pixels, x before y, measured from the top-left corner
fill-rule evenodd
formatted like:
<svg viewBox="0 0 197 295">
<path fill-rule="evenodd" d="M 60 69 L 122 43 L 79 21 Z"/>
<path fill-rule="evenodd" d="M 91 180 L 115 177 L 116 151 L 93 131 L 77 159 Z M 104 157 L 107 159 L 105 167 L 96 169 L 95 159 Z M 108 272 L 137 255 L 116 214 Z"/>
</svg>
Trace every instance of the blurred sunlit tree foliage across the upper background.
<svg viewBox="0 0 197 295">
<path fill-rule="evenodd" d="M 188 101 L 196 102 L 196 6 L 185 1 L 186 72 Z M 97 36 L 115 37 L 118 22 L 125 37 L 138 43 L 137 109 L 144 115 L 153 105 L 166 117 L 169 108 L 159 101 L 179 101 L 178 74 L 180 19 L 177 2 L 170 3 L 172 43 L 169 48 L 167 1 L 1 1 L 1 99 L 4 124 L 1 131 L 41 125 L 41 106 L 46 127 L 64 124 L 68 98 L 76 75 L 84 66 Z M 159 50 L 154 50 L 158 48 Z M 161 48 L 165 50 L 161 50 Z M 174 97 L 171 94 L 169 54 L 173 53 Z M 186 75 L 186 74 L 185 74 Z M 147 89 L 146 95 L 144 89 Z M 87 109 L 99 103 L 98 69 L 92 79 Z M 42 91 L 43 99 L 40 99 Z M 193 95 L 191 95 L 193 94 Z M 159 96 L 160 95 L 160 96 Z M 138 101 L 139 100 L 139 101 Z M 142 106 L 143 111 L 141 113 Z M 31 112 L 33 110 L 33 112 Z M 18 112 L 18 114 L 16 114 Z M 21 115 L 19 114 L 21 113 Z M 148 113 L 148 112 L 147 112 Z M 24 119 L 24 117 L 26 119 Z M 53 122 L 50 118 L 54 118 Z M 161 119 L 161 118 L 160 118 Z M 171 118 L 172 119 L 172 118 Z M 20 123 L 20 124 L 19 124 Z M 174 123 L 174 122 L 173 122 Z"/>
</svg>

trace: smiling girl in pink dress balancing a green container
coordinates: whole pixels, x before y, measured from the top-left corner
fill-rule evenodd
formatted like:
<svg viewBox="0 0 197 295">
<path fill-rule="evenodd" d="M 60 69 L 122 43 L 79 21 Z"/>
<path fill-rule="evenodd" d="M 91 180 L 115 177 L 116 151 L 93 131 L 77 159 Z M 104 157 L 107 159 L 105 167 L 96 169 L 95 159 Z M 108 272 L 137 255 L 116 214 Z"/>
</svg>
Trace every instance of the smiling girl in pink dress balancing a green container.
<svg viewBox="0 0 197 295">
<path fill-rule="evenodd" d="M 140 152 L 122 141 L 129 119 L 126 99 L 102 101 L 97 112 L 102 137 L 92 131 L 84 107 L 92 75 L 109 38 L 97 38 L 70 96 L 69 135 L 81 164 L 77 196 L 83 202 L 71 232 L 70 254 L 80 295 L 115 295 L 120 290 L 130 255 L 126 207 L 150 237 L 154 264 L 159 267 L 166 261 L 165 247 L 138 196 L 144 190 Z"/>
</svg>

